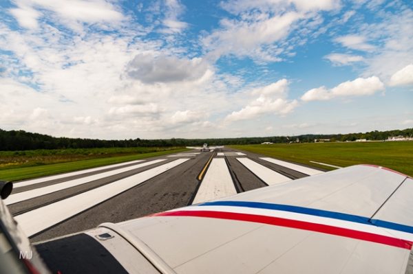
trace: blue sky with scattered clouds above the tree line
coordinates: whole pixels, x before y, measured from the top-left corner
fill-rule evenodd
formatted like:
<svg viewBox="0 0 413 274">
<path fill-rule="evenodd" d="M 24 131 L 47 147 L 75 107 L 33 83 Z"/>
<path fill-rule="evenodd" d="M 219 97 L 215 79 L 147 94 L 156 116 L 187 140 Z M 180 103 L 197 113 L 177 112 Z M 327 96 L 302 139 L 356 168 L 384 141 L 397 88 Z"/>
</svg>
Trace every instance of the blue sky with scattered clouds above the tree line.
<svg viewBox="0 0 413 274">
<path fill-rule="evenodd" d="M 413 127 L 410 0 L 1 0 L 0 128 L 158 139 Z"/>
</svg>

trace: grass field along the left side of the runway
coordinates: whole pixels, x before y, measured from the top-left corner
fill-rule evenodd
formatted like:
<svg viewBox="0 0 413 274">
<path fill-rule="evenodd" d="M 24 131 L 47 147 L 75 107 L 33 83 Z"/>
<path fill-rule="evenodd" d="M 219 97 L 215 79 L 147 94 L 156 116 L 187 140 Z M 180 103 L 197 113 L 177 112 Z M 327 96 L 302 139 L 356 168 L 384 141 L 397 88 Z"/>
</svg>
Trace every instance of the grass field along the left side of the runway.
<svg viewBox="0 0 413 274">
<path fill-rule="evenodd" d="M 0 180 L 19 181 L 156 157 L 186 148 L 92 148 L 0 152 Z"/>
</svg>

